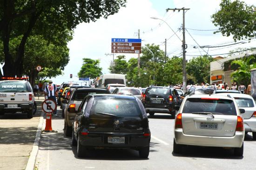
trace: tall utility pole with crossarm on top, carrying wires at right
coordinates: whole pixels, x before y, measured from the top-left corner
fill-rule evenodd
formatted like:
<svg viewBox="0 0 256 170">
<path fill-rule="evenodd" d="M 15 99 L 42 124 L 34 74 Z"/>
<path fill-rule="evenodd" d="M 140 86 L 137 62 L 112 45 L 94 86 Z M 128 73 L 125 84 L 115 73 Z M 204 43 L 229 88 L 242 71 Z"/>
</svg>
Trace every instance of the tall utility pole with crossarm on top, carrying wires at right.
<svg viewBox="0 0 256 170">
<path fill-rule="evenodd" d="M 187 90 L 187 71 L 186 71 L 186 44 L 185 44 L 185 10 L 189 10 L 190 8 L 168 8 L 166 9 L 166 11 L 168 12 L 169 10 L 173 10 L 173 12 L 175 12 L 175 10 L 178 10 L 178 12 L 180 12 L 180 10 L 183 11 L 183 24 L 182 24 L 182 32 L 183 32 L 183 40 L 182 40 L 182 51 L 183 51 L 183 60 L 182 60 L 182 68 L 183 68 L 183 92 L 185 92 Z"/>
</svg>

